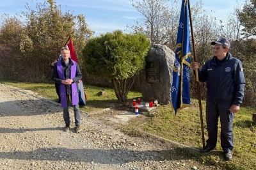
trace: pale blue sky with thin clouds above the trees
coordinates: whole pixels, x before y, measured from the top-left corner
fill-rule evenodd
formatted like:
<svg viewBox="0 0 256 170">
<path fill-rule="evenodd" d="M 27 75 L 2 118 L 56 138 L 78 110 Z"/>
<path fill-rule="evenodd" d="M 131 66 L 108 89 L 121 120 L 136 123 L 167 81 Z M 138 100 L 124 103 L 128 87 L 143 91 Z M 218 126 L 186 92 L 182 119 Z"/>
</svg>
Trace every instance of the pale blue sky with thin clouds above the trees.
<svg viewBox="0 0 256 170">
<path fill-rule="evenodd" d="M 44 3 L 47 0 L 5 0 L 0 3 L 0 15 L 4 13 L 13 16 L 16 13 L 28 12 L 29 8 L 36 10 L 36 2 Z M 141 1 L 141 0 L 134 0 Z M 180 0 L 181 1 L 181 0 Z M 190 0 L 191 7 L 200 0 Z M 234 6 L 243 6 L 246 0 L 202 0 L 203 9 L 214 13 L 220 20 L 226 20 L 228 13 L 234 12 Z M 61 5 L 61 11 L 83 14 L 88 27 L 95 31 L 95 36 L 100 33 L 112 32 L 120 29 L 129 32 L 127 25 L 135 24 L 136 19 L 141 17 L 129 0 L 55 0 Z M 167 3 L 170 6 L 170 2 Z M 131 31 L 131 30 L 130 30 Z"/>
</svg>

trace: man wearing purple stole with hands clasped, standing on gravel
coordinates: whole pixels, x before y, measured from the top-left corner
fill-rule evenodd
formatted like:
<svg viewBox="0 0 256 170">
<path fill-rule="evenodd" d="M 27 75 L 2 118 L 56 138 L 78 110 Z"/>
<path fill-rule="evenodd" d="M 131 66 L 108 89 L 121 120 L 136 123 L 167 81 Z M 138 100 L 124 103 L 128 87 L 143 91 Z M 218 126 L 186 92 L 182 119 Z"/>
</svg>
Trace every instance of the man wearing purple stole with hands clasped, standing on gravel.
<svg viewBox="0 0 256 170">
<path fill-rule="evenodd" d="M 61 107 L 63 118 L 66 123 L 65 130 L 70 128 L 70 116 L 68 112 L 69 96 L 72 101 L 75 114 L 76 132 L 80 130 L 80 110 L 78 105 L 78 85 L 82 73 L 76 61 L 70 59 L 70 51 L 67 47 L 61 48 L 62 59 L 54 65 L 52 80 L 60 84 Z"/>
</svg>

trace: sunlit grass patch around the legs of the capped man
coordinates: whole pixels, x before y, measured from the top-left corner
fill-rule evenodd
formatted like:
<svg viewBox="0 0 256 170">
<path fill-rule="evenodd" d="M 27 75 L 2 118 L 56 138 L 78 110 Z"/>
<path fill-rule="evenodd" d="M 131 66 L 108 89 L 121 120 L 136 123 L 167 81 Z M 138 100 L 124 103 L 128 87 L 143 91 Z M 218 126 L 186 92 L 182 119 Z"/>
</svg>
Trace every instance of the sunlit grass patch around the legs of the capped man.
<svg viewBox="0 0 256 170">
<path fill-rule="evenodd" d="M 172 114 L 171 107 L 160 106 L 157 114 L 139 127 L 145 132 L 159 135 L 193 148 L 202 148 L 202 130 L 198 101 L 191 100 L 191 107 L 182 109 L 177 115 Z M 205 140 L 207 129 L 205 121 L 205 101 L 202 101 Z M 220 122 L 218 128 L 218 144 L 210 153 L 198 153 L 203 164 L 214 164 L 221 169 L 255 169 L 256 167 L 256 125 L 252 114 L 256 109 L 241 107 L 234 119 L 234 150 L 233 160 L 226 161 L 220 146 Z M 206 142 L 205 142 L 206 144 Z M 214 163 L 213 163 L 214 162 Z"/>
</svg>

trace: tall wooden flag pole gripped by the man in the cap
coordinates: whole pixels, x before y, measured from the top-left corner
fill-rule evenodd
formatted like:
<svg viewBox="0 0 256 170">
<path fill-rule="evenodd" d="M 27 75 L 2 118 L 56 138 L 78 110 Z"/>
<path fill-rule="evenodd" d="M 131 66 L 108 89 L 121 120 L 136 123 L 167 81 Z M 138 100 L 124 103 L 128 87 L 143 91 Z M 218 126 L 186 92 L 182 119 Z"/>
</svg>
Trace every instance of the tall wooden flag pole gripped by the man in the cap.
<svg viewBox="0 0 256 170">
<path fill-rule="evenodd" d="M 196 59 L 196 48 L 195 48 L 195 39 L 194 39 L 194 32 L 193 32 L 193 24 L 192 24 L 192 17 L 191 17 L 191 10 L 190 10 L 190 2 L 188 1 L 188 12 L 189 12 L 189 21 L 191 27 L 191 37 L 192 37 L 192 46 L 193 46 L 193 56 L 194 61 L 197 62 Z M 199 111 L 200 111 L 200 122 L 201 122 L 201 131 L 202 131 L 202 143 L 203 148 L 205 148 L 205 139 L 204 139 L 204 122 L 203 122 L 203 114 L 202 114 L 202 103 L 201 103 L 201 93 L 200 93 L 200 84 L 198 79 L 198 69 L 195 70 L 196 75 L 196 87 L 197 87 L 197 95 L 198 95 L 198 103 L 199 103 Z"/>
</svg>

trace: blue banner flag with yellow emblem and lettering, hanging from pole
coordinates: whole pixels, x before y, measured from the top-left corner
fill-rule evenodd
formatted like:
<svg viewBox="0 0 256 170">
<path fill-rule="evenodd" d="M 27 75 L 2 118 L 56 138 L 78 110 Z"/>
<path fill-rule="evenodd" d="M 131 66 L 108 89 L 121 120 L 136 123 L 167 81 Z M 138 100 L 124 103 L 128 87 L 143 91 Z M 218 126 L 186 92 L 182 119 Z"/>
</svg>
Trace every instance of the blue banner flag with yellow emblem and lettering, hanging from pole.
<svg viewBox="0 0 256 170">
<path fill-rule="evenodd" d="M 190 106 L 189 79 L 191 49 L 189 43 L 188 1 L 182 0 L 180 21 L 173 66 L 173 82 L 170 89 L 173 113 Z"/>
</svg>

